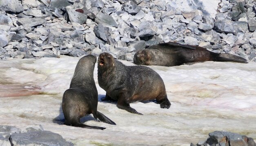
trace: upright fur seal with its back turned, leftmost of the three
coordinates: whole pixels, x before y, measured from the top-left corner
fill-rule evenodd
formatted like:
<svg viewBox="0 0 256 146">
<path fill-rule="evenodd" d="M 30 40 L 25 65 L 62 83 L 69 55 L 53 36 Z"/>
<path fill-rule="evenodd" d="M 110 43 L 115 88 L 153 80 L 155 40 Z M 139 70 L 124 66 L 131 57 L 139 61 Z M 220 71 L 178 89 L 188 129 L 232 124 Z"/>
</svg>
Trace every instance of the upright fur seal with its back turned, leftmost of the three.
<svg viewBox="0 0 256 146">
<path fill-rule="evenodd" d="M 90 129 L 106 129 L 105 127 L 88 126 L 80 123 L 80 118 L 87 114 L 93 114 L 102 122 L 116 125 L 115 122 L 97 111 L 98 91 L 93 79 L 93 70 L 97 61 L 96 56 L 87 55 L 82 57 L 71 79 L 70 88 L 62 97 L 62 110 L 65 116 L 65 125 Z"/>
</svg>

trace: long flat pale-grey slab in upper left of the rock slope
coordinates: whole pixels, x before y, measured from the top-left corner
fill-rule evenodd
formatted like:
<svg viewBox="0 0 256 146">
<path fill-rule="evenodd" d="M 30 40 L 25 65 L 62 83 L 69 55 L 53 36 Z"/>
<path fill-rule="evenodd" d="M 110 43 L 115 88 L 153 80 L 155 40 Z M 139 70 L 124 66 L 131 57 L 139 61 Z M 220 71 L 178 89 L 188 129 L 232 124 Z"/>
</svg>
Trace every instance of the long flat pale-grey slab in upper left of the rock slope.
<svg viewBox="0 0 256 146">
<path fill-rule="evenodd" d="M 45 19 L 42 18 L 19 18 L 17 24 L 23 25 L 24 27 L 40 26 L 46 23 Z"/>
</svg>

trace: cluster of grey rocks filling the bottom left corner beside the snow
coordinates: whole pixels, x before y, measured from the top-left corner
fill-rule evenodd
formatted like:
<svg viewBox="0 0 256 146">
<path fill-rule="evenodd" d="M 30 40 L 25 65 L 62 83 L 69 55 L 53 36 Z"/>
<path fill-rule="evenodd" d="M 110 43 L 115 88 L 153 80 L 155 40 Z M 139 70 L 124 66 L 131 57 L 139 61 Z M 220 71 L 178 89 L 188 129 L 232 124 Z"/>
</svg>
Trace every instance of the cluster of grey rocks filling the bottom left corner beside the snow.
<svg viewBox="0 0 256 146">
<path fill-rule="evenodd" d="M 73 146 L 66 142 L 61 135 L 44 131 L 41 125 L 31 125 L 22 131 L 12 126 L 0 125 L 1 146 Z"/>
</svg>

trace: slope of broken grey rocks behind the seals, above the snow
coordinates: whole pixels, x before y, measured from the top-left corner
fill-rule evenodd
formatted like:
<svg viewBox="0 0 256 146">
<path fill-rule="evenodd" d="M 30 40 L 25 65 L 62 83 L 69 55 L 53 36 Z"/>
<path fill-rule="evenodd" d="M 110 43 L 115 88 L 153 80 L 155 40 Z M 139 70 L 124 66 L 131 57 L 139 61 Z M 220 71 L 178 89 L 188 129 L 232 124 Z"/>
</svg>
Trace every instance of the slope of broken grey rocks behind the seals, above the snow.
<svg viewBox="0 0 256 146">
<path fill-rule="evenodd" d="M 256 61 L 256 1 L 215 0 L 214 12 L 211 1 L 0 0 L 0 59 L 110 52 L 132 60 L 176 41 Z"/>
</svg>

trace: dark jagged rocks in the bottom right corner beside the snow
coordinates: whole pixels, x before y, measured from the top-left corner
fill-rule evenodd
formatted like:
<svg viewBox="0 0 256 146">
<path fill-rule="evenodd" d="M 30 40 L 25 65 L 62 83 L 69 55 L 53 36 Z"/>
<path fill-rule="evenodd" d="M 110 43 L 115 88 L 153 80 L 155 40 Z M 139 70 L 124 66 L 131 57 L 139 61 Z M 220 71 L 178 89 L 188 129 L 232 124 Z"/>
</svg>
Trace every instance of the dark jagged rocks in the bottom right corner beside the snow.
<svg viewBox="0 0 256 146">
<path fill-rule="evenodd" d="M 191 143 L 190 146 L 256 146 L 251 137 L 237 133 L 214 131 L 209 133 L 207 140 Z"/>
</svg>

